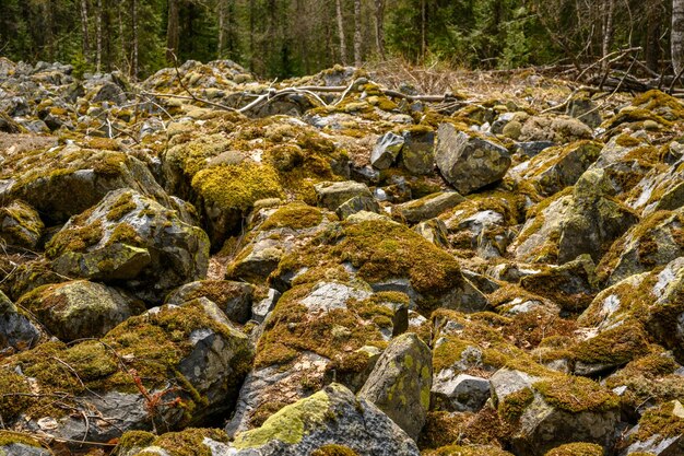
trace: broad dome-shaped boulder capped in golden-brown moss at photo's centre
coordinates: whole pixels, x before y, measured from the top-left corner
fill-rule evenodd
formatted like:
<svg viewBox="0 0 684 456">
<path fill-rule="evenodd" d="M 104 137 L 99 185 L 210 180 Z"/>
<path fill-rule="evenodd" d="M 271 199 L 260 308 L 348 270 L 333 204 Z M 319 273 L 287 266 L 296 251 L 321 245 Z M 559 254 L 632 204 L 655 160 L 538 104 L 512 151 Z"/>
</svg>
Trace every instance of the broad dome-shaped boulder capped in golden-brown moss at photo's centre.
<svg viewBox="0 0 684 456">
<path fill-rule="evenodd" d="M 286 289 L 330 273 L 363 280 L 375 291 L 403 292 L 425 314 L 437 305 L 464 312 L 488 305 L 456 258 L 408 226 L 381 219 L 331 224 L 284 256 L 271 279 Z"/>
</svg>

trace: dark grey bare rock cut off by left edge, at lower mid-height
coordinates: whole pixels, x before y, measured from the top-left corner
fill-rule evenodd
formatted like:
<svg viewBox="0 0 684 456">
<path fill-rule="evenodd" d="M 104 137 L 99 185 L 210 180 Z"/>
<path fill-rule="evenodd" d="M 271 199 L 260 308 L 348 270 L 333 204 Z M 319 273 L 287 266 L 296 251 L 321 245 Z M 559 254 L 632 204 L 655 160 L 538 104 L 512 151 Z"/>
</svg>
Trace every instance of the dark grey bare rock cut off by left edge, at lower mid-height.
<svg viewBox="0 0 684 456">
<path fill-rule="evenodd" d="M 0 291 L 0 353 L 30 349 L 42 336 L 40 329 Z"/>
</svg>

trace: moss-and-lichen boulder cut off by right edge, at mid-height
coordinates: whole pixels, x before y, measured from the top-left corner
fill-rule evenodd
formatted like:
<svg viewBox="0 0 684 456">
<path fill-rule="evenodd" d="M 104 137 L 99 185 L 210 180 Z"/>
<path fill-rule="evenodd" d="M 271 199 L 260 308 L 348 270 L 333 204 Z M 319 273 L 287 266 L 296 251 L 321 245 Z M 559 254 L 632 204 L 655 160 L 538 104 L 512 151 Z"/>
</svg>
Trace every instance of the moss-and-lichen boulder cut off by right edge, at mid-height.
<svg viewBox="0 0 684 456">
<path fill-rule="evenodd" d="M 658 211 L 632 226 L 599 265 L 600 278 L 614 284 L 662 267 L 684 255 L 684 208 Z"/>
</svg>

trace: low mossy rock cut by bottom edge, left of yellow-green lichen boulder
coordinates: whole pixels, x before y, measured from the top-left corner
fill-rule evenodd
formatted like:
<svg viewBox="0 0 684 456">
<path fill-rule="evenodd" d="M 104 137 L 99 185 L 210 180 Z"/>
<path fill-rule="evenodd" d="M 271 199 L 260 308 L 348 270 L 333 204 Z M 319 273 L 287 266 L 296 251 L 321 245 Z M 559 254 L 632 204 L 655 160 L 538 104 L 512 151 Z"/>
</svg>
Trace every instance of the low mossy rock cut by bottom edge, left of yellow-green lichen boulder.
<svg viewBox="0 0 684 456">
<path fill-rule="evenodd" d="M 229 452 L 228 436 L 217 429 L 188 428 L 154 435 L 130 431 L 119 440 L 113 456 L 163 454 L 169 456 L 222 456 Z"/>
</svg>

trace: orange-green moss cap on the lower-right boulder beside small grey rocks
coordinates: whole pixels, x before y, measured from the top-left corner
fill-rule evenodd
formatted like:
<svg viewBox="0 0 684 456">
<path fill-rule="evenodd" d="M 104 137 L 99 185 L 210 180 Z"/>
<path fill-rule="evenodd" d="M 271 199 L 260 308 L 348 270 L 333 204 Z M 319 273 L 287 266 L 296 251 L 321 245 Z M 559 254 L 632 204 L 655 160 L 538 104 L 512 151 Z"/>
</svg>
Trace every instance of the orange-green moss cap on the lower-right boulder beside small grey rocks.
<svg viewBox="0 0 684 456">
<path fill-rule="evenodd" d="M 533 385 L 546 402 L 571 413 L 617 410 L 620 398 L 595 382 L 583 377 L 557 376 Z"/>
</svg>

